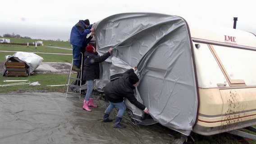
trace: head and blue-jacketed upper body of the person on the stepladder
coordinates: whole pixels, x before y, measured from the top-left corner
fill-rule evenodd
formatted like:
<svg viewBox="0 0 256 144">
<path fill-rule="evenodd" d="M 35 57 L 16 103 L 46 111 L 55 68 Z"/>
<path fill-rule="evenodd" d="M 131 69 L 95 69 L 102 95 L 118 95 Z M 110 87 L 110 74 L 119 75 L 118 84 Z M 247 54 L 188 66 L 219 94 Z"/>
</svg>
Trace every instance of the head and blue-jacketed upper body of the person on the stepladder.
<svg viewBox="0 0 256 144">
<path fill-rule="evenodd" d="M 82 43 L 85 40 L 86 36 L 91 32 L 92 25 L 89 25 L 85 28 L 85 23 L 82 20 L 72 27 L 70 33 L 70 44 L 77 45 L 82 47 Z"/>
</svg>

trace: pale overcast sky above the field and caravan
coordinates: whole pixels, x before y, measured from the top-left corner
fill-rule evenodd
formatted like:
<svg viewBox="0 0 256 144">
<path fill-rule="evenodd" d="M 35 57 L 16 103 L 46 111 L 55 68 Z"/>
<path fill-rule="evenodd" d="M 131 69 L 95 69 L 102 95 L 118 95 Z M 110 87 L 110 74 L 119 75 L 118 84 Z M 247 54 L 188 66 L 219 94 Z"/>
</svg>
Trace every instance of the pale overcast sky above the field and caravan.
<svg viewBox="0 0 256 144">
<path fill-rule="evenodd" d="M 79 20 L 96 23 L 114 14 L 150 12 L 176 15 L 256 34 L 253 0 L 5 0 L 0 8 L 0 36 L 14 34 L 41 40 L 69 40 Z"/>
</svg>

